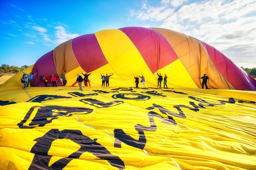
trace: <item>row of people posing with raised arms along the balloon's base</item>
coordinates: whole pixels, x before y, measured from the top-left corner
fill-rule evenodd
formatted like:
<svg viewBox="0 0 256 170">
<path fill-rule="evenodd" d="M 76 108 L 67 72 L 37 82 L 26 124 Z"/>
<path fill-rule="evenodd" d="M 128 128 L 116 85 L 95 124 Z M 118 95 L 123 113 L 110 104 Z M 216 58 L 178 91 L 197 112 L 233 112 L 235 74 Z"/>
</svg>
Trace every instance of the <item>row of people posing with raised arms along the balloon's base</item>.
<svg viewBox="0 0 256 170">
<path fill-rule="evenodd" d="M 33 77 L 37 73 L 36 74 L 33 74 L 32 72 L 30 74 L 26 74 L 25 72 L 23 72 L 23 73 L 24 74 L 23 74 L 23 77 L 21 78 L 21 83 L 23 83 L 24 89 L 26 90 L 26 87 L 28 87 L 29 83 L 30 83 L 30 87 L 32 87 L 32 85 L 33 85 Z M 64 71 L 64 74 L 62 74 L 61 77 L 59 78 L 59 79 L 62 79 L 63 86 L 65 86 L 67 84 L 67 80 L 66 80 L 65 74 L 66 74 L 66 71 Z M 77 82 L 78 82 L 78 85 L 79 85 L 79 90 L 82 90 L 82 82 L 85 82 L 85 86 L 87 86 L 88 76 L 90 74 L 85 73 L 85 74 L 83 74 L 84 78 L 82 78 L 82 76 L 77 73 Z M 100 75 L 101 75 L 101 73 L 100 73 Z M 111 75 L 113 75 L 113 74 L 111 74 Z M 105 87 L 105 82 L 106 82 L 106 87 L 109 87 L 109 77 L 111 75 L 108 75 L 108 74 L 101 75 L 101 79 L 102 79 L 101 87 Z M 158 75 L 157 86 L 161 87 L 161 83 L 163 81 L 164 88 L 168 88 L 167 87 L 167 78 L 168 78 L 167 75 L 165 74 L 165 77 L 163 78 L 161 73 L 158 74 L 158 71 L 157 71 L 157 75 Z M 146 88 L 145 77 L 143 75 L 142 76 L 139 75 L 139 77 L 141 78 L 140 82 L 142 83 L 142 88 Z M 138 85 L 139 85 L 139 77 L 138 76 L 137 77 L 134 76 L 136 88 L 138 88 Z M 44 82 L 45 87 L 47 87 L 47 80 L 48 80 L 48 78 L 49 77 L 46 74 L 44 74 L 42 76 L 42 80 Z M 199 77 L 199 79 L 203 79 L 203 81 L 202 81 L 202 88 L 204 88 L 204 85 L 205 85 L 206 89 L 208 89 L 208 87 L 207 87 L 207 80 L 208 80 L 208 83 L 209 83 L 209 77 L 207 77 L 206 74 L 204 74 L 204 76 L 203 77 Z M 51 82 L 52 82 L 52 87 L 54 87 L 54 85 L 55 85 L 55 87 L 57 87 L 57 84 L 56 84 L 57 78 L 56 78 L 56 76 L 54 74 L 52 74 L 52 76 L 51 76 Z"/>
</svg>

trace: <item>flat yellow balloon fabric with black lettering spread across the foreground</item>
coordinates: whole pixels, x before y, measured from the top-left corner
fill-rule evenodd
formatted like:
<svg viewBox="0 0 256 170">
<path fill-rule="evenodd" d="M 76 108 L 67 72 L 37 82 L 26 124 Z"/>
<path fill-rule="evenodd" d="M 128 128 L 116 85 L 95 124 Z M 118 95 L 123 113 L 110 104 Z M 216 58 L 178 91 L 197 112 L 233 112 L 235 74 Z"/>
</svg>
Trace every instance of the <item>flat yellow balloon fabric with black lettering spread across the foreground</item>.
<svg viewBox="0 0 256 170">
<path fill-rule="evenodd" d="M 253 91 L 176 87 L 5 90 L 0 169 L 253 170 L 255 99 Z"/>
</svg>

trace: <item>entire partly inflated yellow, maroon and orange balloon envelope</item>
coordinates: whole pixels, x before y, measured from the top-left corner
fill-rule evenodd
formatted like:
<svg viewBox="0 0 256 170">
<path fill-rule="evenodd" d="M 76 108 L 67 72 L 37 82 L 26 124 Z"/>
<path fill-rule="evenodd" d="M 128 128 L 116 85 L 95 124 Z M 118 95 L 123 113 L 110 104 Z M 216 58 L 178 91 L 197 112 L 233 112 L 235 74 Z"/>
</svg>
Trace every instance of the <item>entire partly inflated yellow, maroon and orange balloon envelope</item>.
<svg viewBox="0 0 256 170">
<path fill-rule="evenodd" d="M 24 72 L 37 72 L 26 91 L 23 73 L 0 85 L 0 169 L 256 169 L 256 80 L 194 37 L 102 30 Z M 82 91 L 77 73 L 90 74 Z M 157 86 L 160 74 L 168 88 Z M 135 88 L 142 75 L 147 88 Z"/>
</svg>

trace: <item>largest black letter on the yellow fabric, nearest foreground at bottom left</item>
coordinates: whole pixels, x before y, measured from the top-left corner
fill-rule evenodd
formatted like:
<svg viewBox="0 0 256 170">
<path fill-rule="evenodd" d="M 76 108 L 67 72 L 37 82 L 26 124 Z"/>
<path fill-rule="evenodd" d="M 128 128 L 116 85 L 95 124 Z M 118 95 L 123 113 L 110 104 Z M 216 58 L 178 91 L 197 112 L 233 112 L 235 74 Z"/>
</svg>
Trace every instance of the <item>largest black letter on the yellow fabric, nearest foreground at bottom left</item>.
<svg viewBox="0 0 256 170">
<path fill-rule="evenodd" d="M 70 154 L 68 157 L 61 158 L 49 166 L 51 157 L 48 151 L 51 148 L 52 142 L 57 139 L 69 139 L 80 145 L 80 149 Z M 33 161 L 29 166 L 29 170 L 47 169 L 56 170 L 63 169 L 71 160 L 78 159 L 84 152 L 90 152 L 94 156 L 107 160 L 113 167 L 122 170 L 125 168 L 124 162 L 116 155 L 112 155 L 104 146 L 97 143 L 97 139 L 91 139 L 82 134 L 80 130 L 62 130 L 51 129 L 44 136 L 36 138 L 36 144 L 31 149 L 34 153 Z M 68 148 L 72 149 L 72 148 Z M 79 167 L 79 166 L 78 166 Z"/>
</svg>

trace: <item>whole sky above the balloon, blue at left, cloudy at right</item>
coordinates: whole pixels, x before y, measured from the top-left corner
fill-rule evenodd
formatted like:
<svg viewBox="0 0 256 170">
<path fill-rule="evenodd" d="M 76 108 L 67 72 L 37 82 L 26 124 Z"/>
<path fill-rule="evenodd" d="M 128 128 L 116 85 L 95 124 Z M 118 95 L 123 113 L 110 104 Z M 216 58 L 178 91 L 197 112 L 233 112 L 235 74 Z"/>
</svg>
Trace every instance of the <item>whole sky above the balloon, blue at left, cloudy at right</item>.
<svg viewBox="0 0 256 170">
<path fill-rule="evenodd" d="M 0 2 L 0 65 L 31 65 L 71 38 L 127 26 L 164 27 L 256 67 L 256 0 Z"/>
</svg>

